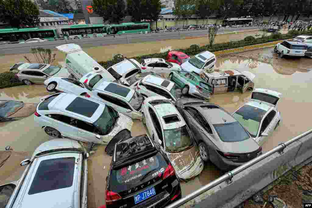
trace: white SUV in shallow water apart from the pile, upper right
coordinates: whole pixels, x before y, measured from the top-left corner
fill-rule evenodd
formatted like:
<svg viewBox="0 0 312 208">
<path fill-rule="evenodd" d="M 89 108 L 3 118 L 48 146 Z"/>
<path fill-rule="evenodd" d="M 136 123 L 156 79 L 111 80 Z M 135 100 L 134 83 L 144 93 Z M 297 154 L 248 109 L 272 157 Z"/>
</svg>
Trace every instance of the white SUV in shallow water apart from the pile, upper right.
<svg viewBox="0 0 312 208">
<path fill-rule="evenodd" d="M 306 51 L 307 46 L 305 44 L 294 41 L 283 41 L 282 43 L 278 43 L 274 48 L 274 52 L 280 53 L 281 58 L 284 56 L 303 57 Z"/>
</svg>

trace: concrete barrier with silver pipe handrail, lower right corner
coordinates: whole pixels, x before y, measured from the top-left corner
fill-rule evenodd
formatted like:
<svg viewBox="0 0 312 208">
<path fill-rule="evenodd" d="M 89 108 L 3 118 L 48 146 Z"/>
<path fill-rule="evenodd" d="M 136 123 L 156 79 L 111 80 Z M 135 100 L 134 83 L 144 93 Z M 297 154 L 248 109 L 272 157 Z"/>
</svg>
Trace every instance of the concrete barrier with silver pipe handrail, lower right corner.
<svg viewBox="0 0 312 208">
<path fill-rule="evenodd" d="M 166 206 L 166 208 L 233 208 L 291 168 L 312 161 L 312 129 Z"/>
</svg>

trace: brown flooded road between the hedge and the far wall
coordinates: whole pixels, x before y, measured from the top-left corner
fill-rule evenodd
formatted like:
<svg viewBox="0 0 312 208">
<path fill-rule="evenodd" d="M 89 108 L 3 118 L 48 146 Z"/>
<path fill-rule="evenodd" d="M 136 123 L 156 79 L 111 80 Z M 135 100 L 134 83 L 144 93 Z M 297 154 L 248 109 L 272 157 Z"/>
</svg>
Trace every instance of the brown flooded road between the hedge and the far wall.
<svg viewBox="0 0 312 208">
<path fill-rule="evenodd" d="M 285 31 L 286 32 L 286 31 Z M 254 36 L 259 34 L 259 31 L 239 32 L 236 34 L 220 34 L 216 36 L 215 43 L 228 42 L 229 40 L 236 41 L 244 39 L 246 36 Z M 160 53 L 168 51 L 168 49 L 180 49 L 188 48 L 192 44 L 204 46 L 208 44 L 208 38 L 206 37 L 192 37 L 187 39 L 178 40 L 164 40 L 154 42 L 142 42 L 131 44 L 119 44 L 108 45 L 98 47 L 84 47 L 83 50 L 88 53 L 92 58 L 97 61 L 106 61 L 112 59 L 116 54 L 122 53 L 127 57 L 141 56 L 145 54 Z M 30 49 L 29 49 L 30 50 Z M 59 65 L 59 62 L 65 60 L 65 54 L 54 50 L 52 54 L 56 54 L 55 65 Z M 0 56 L 0 73 L 8 71 L 10 66 L 17 62 L 26 61 L 24 56 L 27 56 L 30 60 L 34 61 L 35 58 L 31 53 L 27 54 L 13 54 Z"/>
</svg>

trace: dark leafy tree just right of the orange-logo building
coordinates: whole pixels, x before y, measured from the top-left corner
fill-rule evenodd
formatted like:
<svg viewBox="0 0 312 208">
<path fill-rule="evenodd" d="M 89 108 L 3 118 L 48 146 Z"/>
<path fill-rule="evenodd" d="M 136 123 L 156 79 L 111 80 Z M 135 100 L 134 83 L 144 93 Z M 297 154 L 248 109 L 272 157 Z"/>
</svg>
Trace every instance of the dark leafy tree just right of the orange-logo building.
<svg viewBox="0 0 312 208">
<path fill-rule="evenodd" d="M 119 23 L 126 16 L 124 0 L 93 0 L 95 13 L 110 23 Z"/>
</svg>

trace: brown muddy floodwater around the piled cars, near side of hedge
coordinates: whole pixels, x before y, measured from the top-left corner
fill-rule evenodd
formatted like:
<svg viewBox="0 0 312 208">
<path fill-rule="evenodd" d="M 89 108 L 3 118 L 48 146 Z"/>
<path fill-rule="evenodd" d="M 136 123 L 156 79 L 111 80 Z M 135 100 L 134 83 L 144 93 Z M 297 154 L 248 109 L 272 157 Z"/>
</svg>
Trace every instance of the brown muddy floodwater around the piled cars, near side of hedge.
<svg viewBox="0 0 312 208">
<path fill-rule="evenodd" d="M 217 58 L 218 69 L 250 71 L 256 75 L 256 88 L 268 88 L 282 93 L 278 103 L 281 122 L 263 145 L 264 152 L 274 148 L 311 128 L 312 105 L 312 59 L 281 59 L 273 53 L 273 48 Z M 0 99 L 17 99 L 24 102 L 38 102 L 48 94 L 45 86 L 31 85 L 0 89 Z M 235 111 L 247 102 L 251 92 L 212 95 L 211 102 L 229 112 Z M 34 126 L 33 116 L 20 121 L 2 123 L 0 147 L 11 145 L 16 151 L 32 152 L 42 142 L 51 139 L 40 127 Z M 144 125 L 135 121 L 132 136 L 146 133 Z M 96 208 L 105 203 L 105 178 L 111 157 L 105 154 L 105 146 L 96 146 L 95 153 L 88 160 L 88 207 Z M 181 183 L 183 196 L 220 176 L 219 170 L 207 163 L 200 176 L 188 183 Z"/>
</svg>

